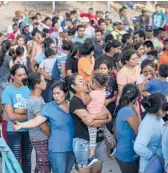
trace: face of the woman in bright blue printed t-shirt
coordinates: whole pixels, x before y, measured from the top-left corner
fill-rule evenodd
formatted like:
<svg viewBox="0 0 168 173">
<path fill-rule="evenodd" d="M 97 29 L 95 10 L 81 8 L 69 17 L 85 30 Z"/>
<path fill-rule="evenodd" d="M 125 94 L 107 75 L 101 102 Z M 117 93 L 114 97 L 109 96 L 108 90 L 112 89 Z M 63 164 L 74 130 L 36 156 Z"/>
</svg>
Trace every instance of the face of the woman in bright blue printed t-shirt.
<svg viewBox="0 0 168 173">
<path fill-rule="evenodd" d="M 27 78 L 27 74 L 24 68 L 19 68 L 16 70 L 16 73 L 14 76 L 12 76 L 14 82 L 20 86 L 23 85 L 23 80 Z"/>
</svg>

